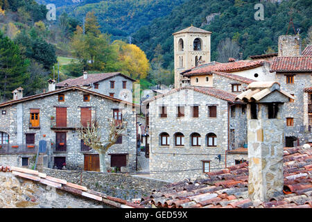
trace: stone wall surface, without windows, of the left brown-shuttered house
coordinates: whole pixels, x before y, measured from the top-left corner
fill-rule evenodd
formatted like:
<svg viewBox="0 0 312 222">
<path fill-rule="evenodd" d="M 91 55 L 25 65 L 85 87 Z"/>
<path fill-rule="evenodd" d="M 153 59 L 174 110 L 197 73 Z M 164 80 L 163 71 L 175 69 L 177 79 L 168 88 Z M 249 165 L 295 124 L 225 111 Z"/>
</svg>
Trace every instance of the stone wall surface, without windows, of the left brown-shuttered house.
<svg viewBox="0 0 312 222">
<path fill-rule="evenodd" d="M 0 110 L 6 110 L 5 115 L 0 115 L 0 132 L 8 133 L 10 144 L 26 144 L 26 133 L 35 134 L 35 146 L 39 145 L 40 140 L 45 140 L 48 148 L 52 144 L 53 159 L 55 157 L 66 157 L 67 168 L 84 168 L 84 154 L 81 151 L 81 142 L 75 128 L 80 127 L 80 108 L 91 108 L 92 120 L 96 120 L 101 128 L 102 139 L 107 137 L 107 119 L 112 119 L 113 109 L 122 110 L 123 119 L 128 122 L 128 126 L 123 132 L 122 144 L 114 144 L 110 153 L 126 153 L 127 166 L 126 171 L 135 171 L 136 169 L 136 118 L 132 112 L 132 105 L 120 103 L 107 97 L 90 95 L 89 101 L 83 101 L 83 95 L 87 92 L 72 87 L 71 89 L 59 89 L 59 93 L 64 94 L 64 101 L 58 101 L 58 93 L 49 92 L 46 96 L 38 96 L 33 100 L 21 101 L 12 105 L 1 105 Z M 67 108 L 67 127 L 53 128 L 51 117 L 56 116 L 57 107 Z M 30 127 L 30 110 L 40 110 L 40 128 Z M 56 133 L 66 133 L 66 151 L 55 151 Z M 53 146 L 54 144 L 54 146 Z M 96 153 L 90 151 L 86 153 Z M 110 169 L 110 155 L 106 156 L 106 165 Z M 51 166 L 53 167 L 53 166 Z"/>
</svg>

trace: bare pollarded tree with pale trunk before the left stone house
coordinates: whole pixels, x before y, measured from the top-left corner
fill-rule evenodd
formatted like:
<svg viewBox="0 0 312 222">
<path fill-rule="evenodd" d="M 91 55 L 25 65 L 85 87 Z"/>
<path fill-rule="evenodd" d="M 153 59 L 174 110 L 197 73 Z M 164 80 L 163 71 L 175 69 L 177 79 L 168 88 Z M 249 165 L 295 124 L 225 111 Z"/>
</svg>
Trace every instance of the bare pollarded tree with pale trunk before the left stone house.
<svg viewBox="0 0 312 222">
<path fill-rule="evenodd" d="M 107 119 L 109 126 L 107 128 L 108 137 L 106 140 L 101 138 L 101 129 L 98 123 L 92 121 L 91 124 L 87 123 L 87 127 L 80 126 L 78 128 L 78 137 L 83 139 L 83 142 L 90 148 L 98 152 L 100 157 L 100 171 L 106 172 L 105 156 L 107 150 L 116 143 L 117 139 L 122 135 L 123 130 L 127 127 L 126 121 L 116 123 L 115 119 Z"/>
</svg>

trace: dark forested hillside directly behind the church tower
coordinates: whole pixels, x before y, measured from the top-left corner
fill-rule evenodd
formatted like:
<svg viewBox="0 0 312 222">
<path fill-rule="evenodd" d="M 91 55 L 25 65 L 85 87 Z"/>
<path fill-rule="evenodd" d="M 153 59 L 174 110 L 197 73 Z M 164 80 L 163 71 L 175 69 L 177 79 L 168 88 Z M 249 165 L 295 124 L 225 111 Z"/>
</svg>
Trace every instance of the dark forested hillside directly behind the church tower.
<svg viewBox="0 0 312 222">
<path fill-rule="evenodd" d="M 164 67 L 172 69 L 172 33 L 193 24 L 212 32 L 211 60 L 218 58 L 217 46 L 226 37 L 239 45 L 245 59 L 267 51 L 277 51 L 278 36 L 286 34 L 290 18 L 293 17 L 295 29 L 300 28 L 300 35 L 304 40 L 302 44 L 306 44 L 307 33 L 312 25 L 312 0 L 289 0 L 281 3 L 261 1 L 264 6 L 262 21 L 254 19 L 256 3 L 259 0 L 189 0 L 175 7 L 170 15 L 157 18 L 150 25 L 140 28 L 133 35 L 134 43 L 145 51 L 148 59 L 155 58 L 155 49 L 160 44 Z M 207 24 L 208 15 L 215 16 Z M 294 33 L 292 26 L 289 33 Z"/>
</svg>

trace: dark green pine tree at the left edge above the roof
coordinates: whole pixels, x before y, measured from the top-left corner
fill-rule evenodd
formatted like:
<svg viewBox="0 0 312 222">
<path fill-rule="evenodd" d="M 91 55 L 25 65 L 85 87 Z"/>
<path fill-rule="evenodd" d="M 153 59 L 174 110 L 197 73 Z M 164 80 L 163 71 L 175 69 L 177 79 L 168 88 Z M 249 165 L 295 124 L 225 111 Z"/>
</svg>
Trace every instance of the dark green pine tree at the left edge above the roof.
<svg viewBox="0 0 312 222">
<path fill-rule="evenodd" d="M 1 100 L 12 98 L 12 91 L 24 84 L 28 61 L 21 56 L 19 46 L 0 32 L 0 92 Z"/>
</svg>

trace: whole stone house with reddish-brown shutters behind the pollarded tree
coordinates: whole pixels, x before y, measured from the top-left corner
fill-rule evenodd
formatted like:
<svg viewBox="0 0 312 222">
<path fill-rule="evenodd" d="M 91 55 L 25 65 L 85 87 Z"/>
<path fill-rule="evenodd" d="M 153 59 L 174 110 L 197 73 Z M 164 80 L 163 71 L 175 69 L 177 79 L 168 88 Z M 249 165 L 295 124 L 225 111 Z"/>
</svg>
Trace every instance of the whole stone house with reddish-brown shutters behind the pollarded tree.
<svg viewBox="0 0 312 222">
<path fill-rule="evenodd" d="M 0 103 L 1 164 L 32 167 L 44 140 L 51 151 L 46 167 L 62 169 L 66 165 L 67 169 L 98 171 L 98 155 L 78 138 L 76 128 L 80 123 L 87 126 L 96 121 L 105 139 L 107 119 L 114 118 L 116 122 L 127 121 L 128 126 L 107 151 L 107 169 L 136 170 L 137 117 L 133 103 L 77 86 L 55 89 L 53 80 L 49 80 L 49 90 L 23 97 L 23 89 L 18 88 L 13 91 L 13 100 Z"/>
</svg>

